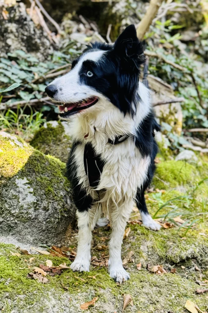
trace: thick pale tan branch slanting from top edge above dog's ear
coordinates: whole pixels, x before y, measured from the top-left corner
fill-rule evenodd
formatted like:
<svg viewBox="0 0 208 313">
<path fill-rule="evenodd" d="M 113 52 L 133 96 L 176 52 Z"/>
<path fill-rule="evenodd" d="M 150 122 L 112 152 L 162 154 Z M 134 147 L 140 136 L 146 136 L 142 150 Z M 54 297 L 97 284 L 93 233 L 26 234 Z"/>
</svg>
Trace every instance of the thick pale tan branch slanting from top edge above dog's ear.
<svg viewBox="0 0 208 313">
<path fill-rule="evenodd" d="M 148 31 L 150 25 L 152 24 L 153 18 L 158 13 L 159 7 L 162 4 L 163 0 L 151 0 L 149 7 L 141 22 L 137 27 L 137 37 L 142 40 L 145 33 Z"/>
</svg>

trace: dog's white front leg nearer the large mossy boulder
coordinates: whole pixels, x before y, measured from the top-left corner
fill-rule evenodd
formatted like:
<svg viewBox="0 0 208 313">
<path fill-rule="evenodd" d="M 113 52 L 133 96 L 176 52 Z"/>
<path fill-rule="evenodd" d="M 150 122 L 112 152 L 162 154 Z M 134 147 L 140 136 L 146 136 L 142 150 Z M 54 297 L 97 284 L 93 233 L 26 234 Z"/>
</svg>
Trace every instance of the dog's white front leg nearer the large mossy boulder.
<svg viewBox="0 0 208 313">
<path fill-rule="evenodd" d="M 89 272 L 91 260 L 91 231 L 93 229 L 95 215 L 96 208 L 94 206 L 88 209 L 88 211 L 77 211 L 79 236 L 76 258 L 70 265 L 73 271 Z"/>
</svg>

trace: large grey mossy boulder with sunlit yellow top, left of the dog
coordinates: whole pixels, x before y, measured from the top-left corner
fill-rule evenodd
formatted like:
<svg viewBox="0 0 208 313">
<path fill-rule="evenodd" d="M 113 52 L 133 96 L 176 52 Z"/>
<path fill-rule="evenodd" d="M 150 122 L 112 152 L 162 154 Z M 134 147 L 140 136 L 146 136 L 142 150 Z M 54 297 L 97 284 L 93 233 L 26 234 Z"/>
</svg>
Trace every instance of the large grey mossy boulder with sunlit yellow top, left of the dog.
<svg viewBox="0 0 208 313">
<path fill-rule="evenodd" d="M 0 133 L 0 235 L 60 243 L 75 223 L 65 163 Z"/>
</svg>

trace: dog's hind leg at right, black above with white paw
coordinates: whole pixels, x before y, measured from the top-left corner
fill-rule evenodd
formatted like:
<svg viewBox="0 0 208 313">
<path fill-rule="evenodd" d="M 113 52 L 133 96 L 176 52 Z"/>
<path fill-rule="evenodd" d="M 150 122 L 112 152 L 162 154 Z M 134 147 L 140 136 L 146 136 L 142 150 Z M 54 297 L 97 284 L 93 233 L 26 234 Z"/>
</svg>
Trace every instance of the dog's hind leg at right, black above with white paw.
<svg viewBox="0 0 208 313">
<path fill-rule="evenodd" d="M 144 198 L 144 191 L 137 191 L 136 203 L 142 218 L 143 225 L 148 229 L 159 230 L 161 228 L 161 225 L 155 222 L 148 212 Z"/>
</svg>

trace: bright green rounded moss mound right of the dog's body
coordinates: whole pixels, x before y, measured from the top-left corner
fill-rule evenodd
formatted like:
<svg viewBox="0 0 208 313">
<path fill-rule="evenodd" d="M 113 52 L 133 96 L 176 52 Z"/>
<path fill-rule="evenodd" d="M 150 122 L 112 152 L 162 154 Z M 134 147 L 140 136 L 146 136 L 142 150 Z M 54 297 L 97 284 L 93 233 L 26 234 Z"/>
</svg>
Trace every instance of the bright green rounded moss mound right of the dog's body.
<svg viewBox="0 0 208 313">
<path fill-rule="evenodd" d="M 196 168 L 184 161 L 164 161 L 157 164 L 153 185 L 159 189 L 191 185 L 200 181 Z"/>
</svg>

